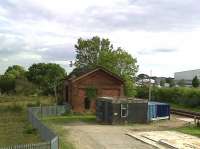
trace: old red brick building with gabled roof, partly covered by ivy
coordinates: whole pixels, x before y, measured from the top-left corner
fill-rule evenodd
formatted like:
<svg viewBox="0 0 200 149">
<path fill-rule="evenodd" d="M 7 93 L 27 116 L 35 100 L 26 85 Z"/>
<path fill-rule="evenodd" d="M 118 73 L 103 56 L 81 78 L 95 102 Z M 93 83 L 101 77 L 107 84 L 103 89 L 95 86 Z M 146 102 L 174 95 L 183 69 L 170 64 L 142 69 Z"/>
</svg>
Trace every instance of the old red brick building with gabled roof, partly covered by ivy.
<svg viewBox="0 0 200 149">
<path fill-rule="evenodd" d="M 71 75 L 64 81 L 64 99 L 72 106 L 73 111 L 95 111 L 95 99 L 89 100 L 86 96 L 86 89 L 91 86 L 95 88 L 97 97 L 124 96 L 123 80 L 102 67 L 87 71 L 81 75 Z"/>
</svg>

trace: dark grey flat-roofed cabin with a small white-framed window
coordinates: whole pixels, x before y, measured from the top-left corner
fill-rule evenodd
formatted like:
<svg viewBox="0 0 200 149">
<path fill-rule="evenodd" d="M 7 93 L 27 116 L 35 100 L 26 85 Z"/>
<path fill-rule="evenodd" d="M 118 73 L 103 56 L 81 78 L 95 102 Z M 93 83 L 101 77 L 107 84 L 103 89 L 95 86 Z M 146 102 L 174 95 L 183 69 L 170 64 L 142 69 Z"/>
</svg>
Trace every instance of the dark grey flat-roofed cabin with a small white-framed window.
<svg viewBox="0 0 200 149">
<path fill-rule="evenodd" d="M 147 100 L 99 97 L 96 101 L 96 119 L 100 123 L 147 123 L 147 112 Z"/>
</svg>

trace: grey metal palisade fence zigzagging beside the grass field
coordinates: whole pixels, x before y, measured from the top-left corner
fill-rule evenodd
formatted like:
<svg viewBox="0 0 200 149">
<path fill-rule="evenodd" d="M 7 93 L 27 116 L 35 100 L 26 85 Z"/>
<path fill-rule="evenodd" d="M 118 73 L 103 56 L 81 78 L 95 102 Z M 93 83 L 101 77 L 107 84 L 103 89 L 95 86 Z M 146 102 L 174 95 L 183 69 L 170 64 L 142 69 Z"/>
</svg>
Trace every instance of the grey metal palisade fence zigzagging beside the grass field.
<svg viewBox="0 0 200 149">
<path fill-rule="evenodd" d="M 0 147 L 0 149 L 59 149 L 59 137 L 42 123 L 41 118 L 61 115 L 69 109 L 68 105 L 28 108 L 28 121 L 38 130 L 41 138 L 46 142 Z"/>
</svg>

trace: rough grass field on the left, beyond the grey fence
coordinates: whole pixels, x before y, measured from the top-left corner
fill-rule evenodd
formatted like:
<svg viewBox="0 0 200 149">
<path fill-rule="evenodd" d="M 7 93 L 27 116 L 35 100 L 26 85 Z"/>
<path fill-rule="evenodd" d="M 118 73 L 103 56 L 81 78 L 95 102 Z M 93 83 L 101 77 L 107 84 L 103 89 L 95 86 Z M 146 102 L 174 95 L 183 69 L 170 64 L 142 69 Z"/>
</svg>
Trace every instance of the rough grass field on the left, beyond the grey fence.
<svg viewBox="0 0 200 149">
<path fill-rule="evenodd" d="M 27 106 L 52 101 L 52 97 L 0 96 L 0 146 L 41 142 L 27 121 Z"/>
</svg>

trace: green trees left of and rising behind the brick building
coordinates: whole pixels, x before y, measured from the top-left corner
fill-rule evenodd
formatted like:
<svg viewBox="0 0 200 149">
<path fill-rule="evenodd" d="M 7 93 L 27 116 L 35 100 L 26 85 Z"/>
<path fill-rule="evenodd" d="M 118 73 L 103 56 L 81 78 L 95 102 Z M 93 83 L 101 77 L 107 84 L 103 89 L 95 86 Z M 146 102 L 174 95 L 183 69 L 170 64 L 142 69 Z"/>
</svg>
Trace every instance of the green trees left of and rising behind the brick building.
<svg viewBox="0 0 200 149">
<path fill-rule="evenodd" d="M 126 96 L 135 96 L 135 75 L 138 65 L 136 58 L 131 54 L 121 47 L 114 48 L 109 39 L 101 39 L 98 36 L 91 39 L 79 38 L 74 48 L 75 68 L 69 76 L 102 66 L 124 80 Z M 60 88 L 62 94 L 62 85 L 58 86 L 65 77 L 67 77 L 65 70 L 58 64 L 38 63 L 30 66 L 28 70 L 13 65 L 0 76 L 0 92 L 53 95 Z"/>
</svg>

